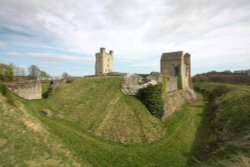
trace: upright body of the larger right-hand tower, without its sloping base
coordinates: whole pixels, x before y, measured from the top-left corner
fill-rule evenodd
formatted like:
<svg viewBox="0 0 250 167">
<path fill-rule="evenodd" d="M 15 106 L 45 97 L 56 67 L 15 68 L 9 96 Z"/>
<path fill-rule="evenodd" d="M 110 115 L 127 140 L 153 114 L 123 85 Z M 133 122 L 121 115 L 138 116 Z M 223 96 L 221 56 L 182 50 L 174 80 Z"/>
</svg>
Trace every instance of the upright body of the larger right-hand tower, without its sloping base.
<svg viewBox="0 0 250 167">
<path fill-rule="evenodd" d="M 166 78 L 167 92 L 191 87 L 190 54 L 183 51 L 163 53 L 161 74 Z"/>
</svg>

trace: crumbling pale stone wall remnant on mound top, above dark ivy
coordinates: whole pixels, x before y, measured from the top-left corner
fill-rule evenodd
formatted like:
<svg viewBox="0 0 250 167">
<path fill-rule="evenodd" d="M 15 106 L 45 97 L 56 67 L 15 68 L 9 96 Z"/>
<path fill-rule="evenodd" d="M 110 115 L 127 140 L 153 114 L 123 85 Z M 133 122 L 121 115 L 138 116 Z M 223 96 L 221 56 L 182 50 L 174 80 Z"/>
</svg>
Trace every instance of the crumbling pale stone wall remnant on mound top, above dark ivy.
<svg viewBox="0 0 250 167">
<path fill-rule="evenodd" d="M 127 74 L 122 83 L 122 91 L 127 95 L 136 95 L 138 90 L 148 85 L 156 85 L 158 82 L 153 77 L 142 77 L 139 74 Z"/>
</svg>

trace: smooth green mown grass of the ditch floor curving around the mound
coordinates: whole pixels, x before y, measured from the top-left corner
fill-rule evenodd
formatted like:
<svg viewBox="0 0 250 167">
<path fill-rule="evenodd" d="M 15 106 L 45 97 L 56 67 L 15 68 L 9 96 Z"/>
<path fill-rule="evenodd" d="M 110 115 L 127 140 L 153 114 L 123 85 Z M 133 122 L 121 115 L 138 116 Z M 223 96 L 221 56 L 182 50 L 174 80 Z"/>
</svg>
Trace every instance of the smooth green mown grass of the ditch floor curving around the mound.
<svg viewBox="0 0 250 167">
<path fill-rule="evenodd" d="M 183 106 L 164 123 L 166 135 L 151 144 L 111 142 L 81 129 L 75 122 L 49 119 L 39 112 L 46 101 L 25 102 L 30 112 L 44 122 L 50 133 L 58 136 L 82 162 L 93 166 L 185 166 L 191 154 L 197 126 L 203 113 L 203 102 Z"/>
</svg>

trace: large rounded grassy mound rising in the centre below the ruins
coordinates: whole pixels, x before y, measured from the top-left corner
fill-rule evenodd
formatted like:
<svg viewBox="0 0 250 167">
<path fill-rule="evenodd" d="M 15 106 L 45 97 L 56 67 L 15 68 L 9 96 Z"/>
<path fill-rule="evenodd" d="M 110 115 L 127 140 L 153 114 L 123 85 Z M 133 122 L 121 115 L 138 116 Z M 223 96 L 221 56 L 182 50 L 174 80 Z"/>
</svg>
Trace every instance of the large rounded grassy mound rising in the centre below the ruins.
<svg viewBox="0 0 250 167">
<path fill-rule="evenodd" d="M 85 77 L 59 87 L 48 103 L 54 116 L 121 143 L 144 143 L 164 135 L 161 122 L 135 97 L 121 91 L 122 77 Z"/>
</svg>

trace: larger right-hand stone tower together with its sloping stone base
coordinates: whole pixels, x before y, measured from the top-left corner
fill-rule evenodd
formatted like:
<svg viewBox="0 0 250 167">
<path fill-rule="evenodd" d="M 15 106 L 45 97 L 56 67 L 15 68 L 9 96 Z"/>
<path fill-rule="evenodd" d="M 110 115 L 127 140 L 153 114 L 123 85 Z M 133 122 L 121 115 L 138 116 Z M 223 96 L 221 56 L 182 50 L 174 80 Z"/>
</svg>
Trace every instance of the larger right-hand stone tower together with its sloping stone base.
<svg viewBox="0 0 250 167">
<path fill-rule="evenodd" d="M 186 101 L 196 100 L 192 89 L 190 54 L 179 52 L 163 53 L 161 57 L 161 75 L 166 86 L 166 119 Z"/>
</svg>

